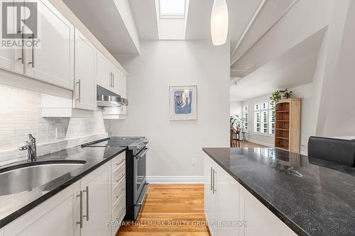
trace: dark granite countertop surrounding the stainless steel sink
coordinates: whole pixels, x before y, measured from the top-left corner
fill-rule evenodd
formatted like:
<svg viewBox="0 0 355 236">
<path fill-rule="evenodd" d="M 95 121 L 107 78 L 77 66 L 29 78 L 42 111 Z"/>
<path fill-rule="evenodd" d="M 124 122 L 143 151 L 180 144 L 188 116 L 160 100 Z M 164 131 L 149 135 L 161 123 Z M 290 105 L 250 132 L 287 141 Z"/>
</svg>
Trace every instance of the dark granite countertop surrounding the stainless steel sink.
<svg viewBox="0 0 355 236">
<path fill-rule="evenodd" d="M 117 154 L 124 152 L 124 150 L 126 150 L 126 147 L 73 147 L 38 157 L 38 162 L 84 160 L 86 163 L 38 188 L 28 189 L 28 191 L 21 193 L 0 196 L 0 228 L 28 212 L 28 210 L 38 206 L 38 204 L 55 195 L 55 193 L 75 183 L 75 181 L 78 181 L 86 174 L 102 166 L 102 164 L 116 157 Z M 0 172 L 4 172 L 5 169 L 11 169 L 15 164 L 25 163 L 26 162 L 16 162 L 8 166 L 0 167 Z"/>
</svg>

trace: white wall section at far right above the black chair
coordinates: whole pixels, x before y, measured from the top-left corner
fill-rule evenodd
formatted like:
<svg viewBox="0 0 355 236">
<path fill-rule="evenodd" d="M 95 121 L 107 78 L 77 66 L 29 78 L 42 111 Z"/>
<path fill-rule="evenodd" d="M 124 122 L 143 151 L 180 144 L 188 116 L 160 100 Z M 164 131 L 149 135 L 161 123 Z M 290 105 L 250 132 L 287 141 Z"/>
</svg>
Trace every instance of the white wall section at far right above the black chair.
<svg viewBox="0 0 355 236">
<path fill-rule="evenodd" d="M 329 26 L 317 135 L 354 136 L 355 2 L 339 1 Z"/>
</svg>

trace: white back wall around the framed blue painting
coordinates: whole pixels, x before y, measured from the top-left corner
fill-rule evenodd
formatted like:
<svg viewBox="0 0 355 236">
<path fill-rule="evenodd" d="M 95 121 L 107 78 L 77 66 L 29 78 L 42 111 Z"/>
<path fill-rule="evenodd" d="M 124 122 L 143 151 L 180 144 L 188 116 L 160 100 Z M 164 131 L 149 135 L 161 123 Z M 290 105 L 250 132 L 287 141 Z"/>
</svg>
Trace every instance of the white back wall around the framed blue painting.
<svg viewBox="0 0 355 236">
<path fill-rule="evenodd" d="M 148 176 L 203 176 L 202 147 L 229 146 L 229 43 L 143 41 L 123 63 L 130 106 L 126 120 L 111 122 L 114 135 L 148 137 Z M 170 85 L 197 85 L 197 120 L 169 120 Z"/>
</svg>

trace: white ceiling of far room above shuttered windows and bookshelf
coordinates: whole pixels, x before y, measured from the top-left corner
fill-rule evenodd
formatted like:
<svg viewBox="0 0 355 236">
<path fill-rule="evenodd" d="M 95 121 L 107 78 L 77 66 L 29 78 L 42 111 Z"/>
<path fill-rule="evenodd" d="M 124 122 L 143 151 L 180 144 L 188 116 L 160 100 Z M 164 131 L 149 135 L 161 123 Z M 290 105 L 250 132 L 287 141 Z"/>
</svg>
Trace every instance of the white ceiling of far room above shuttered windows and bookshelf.
<svg viewBox="0 0 355 236">
<path fill-rule="evenodd" d="M 245 101 L 313 80 L 325 29 L 231 85 L 231 101 Z"/>
</svg>

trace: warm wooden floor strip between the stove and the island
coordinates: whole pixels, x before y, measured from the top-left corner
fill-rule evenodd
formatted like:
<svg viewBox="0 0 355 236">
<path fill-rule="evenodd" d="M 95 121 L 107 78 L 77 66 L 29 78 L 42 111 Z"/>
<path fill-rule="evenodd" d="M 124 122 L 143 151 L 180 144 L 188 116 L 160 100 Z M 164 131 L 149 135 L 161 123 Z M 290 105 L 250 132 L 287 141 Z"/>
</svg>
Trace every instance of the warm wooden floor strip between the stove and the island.
<svg viewBox="0 0 355 236">
<path fill-rule="evenodd" d="M 128 225 L 129 224 L 129 225 Z M 203 184 L 151 184 L 141 213 L 116 236 L 209 236 Z"/>
</svg>

